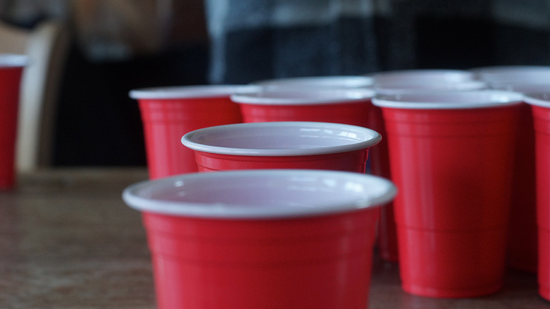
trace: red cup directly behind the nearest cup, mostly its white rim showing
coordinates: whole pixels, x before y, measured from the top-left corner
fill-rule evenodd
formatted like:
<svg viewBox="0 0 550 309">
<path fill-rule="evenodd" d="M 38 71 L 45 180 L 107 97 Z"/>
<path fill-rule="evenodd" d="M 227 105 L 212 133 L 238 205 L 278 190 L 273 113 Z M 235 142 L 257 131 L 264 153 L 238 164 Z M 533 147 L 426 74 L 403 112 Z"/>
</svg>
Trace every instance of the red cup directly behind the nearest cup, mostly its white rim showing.
<svg viewBox="0 0 550 309">
<path fill-rule="evenodd" d="M 323 122 L 228 124 L 192 131 L 181 143 L 195 150 L 199 172 L 299 168 L 365 172 L 380 134 Z"/>
</svg>

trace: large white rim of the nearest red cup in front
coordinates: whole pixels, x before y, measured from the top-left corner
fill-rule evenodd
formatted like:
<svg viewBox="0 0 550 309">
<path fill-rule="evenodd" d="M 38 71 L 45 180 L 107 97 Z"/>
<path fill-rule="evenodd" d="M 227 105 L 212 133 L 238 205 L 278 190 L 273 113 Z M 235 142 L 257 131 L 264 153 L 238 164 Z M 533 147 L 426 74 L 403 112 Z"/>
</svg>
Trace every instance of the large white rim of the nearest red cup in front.
<svg viewBox="0 0 550 309">
<path fill-rule="evenodd" d="M 142 181 L 126 187 L 122 199 L 133 209 L 155 214 L 277 219 L 380 207 L 396 192 L 388 179 L 355 172 L 236 170 Z"/>
</svg>

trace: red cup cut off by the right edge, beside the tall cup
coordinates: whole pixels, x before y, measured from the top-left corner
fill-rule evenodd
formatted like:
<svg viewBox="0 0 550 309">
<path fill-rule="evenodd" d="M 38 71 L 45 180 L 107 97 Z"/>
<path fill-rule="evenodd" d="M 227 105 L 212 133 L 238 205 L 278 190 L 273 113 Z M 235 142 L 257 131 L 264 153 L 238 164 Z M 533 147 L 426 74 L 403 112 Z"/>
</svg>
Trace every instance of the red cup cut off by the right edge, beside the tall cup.
<svg viewBox="0 0 550 309">
<path fill-rule="evenodd" d="M 527 93 L 535 128 L 538 293 L 550 301 L 550 91 Z"/>
</svg>

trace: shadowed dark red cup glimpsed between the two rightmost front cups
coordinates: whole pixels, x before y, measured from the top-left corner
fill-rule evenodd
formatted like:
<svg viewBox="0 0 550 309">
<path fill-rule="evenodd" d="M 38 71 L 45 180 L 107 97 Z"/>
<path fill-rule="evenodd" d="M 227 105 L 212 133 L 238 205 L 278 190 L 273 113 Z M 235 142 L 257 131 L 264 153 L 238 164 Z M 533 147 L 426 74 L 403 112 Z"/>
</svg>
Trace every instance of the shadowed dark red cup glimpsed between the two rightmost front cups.
<svg viewBox="0 0 550 309">
<path fill-rule="evenodd" d="M 504 69 L 500 70 L 505 73 Z M 550 83 L 530 83 L 518 78 L 507 82 L 490 82 L 492 89 L 533 93 L 550 91 Z M 520 107 L 514 186 L 512 188 L 508 231 L 508 264 L 522 271 L 536 273 L 538 268 L 538 228 L 536 223 L 536 157 L 535 130 L 531 106 Z"/>
</svg>

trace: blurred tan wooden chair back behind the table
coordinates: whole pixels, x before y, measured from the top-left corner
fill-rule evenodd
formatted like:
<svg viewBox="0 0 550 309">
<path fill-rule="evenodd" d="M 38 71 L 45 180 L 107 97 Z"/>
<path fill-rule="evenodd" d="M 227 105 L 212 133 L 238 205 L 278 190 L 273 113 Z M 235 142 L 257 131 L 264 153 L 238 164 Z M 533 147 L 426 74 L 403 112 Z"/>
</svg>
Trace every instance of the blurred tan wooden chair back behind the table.
<svg viewBox="0 0 550 309">
<path fill-rule="evenodd" d="M 19 172 L 52 164 L 58 90 L 69 49 L 69 33 L 58 21 L 27 30 L 0 23 L 0 53 L 26 54 L 17 132 Z"/>
</svg>

